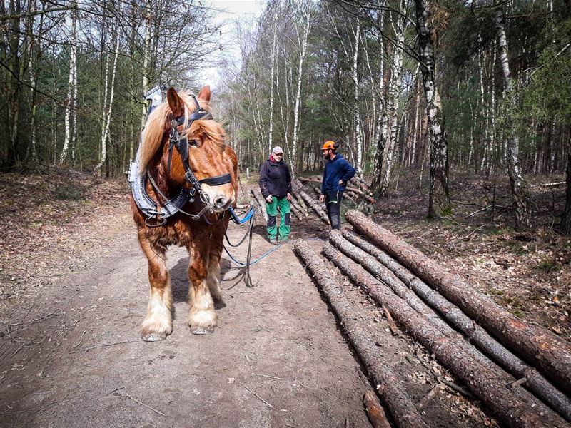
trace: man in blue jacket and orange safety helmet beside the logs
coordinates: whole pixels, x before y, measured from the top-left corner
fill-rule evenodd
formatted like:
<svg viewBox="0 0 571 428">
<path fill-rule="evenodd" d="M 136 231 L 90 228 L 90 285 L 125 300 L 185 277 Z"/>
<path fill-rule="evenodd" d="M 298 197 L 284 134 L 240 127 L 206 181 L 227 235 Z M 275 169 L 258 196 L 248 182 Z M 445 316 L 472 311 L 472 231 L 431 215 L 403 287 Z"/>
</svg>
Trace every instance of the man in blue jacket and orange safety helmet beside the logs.
<svg viewBox="0 0 571 428">
<path fill-rule="evenodd" d="M 321 147 L 321 153 L 325 158 L 325 170 L 323 170 L 319 202 L 325 200 L 331 229 L 341 230 L 341 199 L 348 181 L 355 175 L 355 168 L 337 153 L 338 147 L 334 141 L 325 141 Z"/>
</svg>

